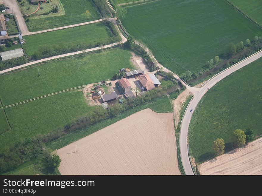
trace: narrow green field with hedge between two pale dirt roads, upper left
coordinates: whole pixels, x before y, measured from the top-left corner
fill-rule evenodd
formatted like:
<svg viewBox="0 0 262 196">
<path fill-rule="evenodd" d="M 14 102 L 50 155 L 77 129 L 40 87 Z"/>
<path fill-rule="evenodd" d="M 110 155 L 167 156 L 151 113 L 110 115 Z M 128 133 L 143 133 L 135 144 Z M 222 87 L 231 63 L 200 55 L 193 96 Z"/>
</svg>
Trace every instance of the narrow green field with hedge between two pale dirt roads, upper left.
<svg viewBox="0 0 262 196">
<path fill-rule="evenodd" d="M 24 36 L 24 39 L 23 47 L 28 56 L 44 50 L 51 50 L 54 56 L 57 51 L 68 53 L 91 48 L 97 43 L 106 45 L 121 40 L 103 22 Z"/>
</svg>

